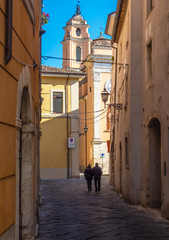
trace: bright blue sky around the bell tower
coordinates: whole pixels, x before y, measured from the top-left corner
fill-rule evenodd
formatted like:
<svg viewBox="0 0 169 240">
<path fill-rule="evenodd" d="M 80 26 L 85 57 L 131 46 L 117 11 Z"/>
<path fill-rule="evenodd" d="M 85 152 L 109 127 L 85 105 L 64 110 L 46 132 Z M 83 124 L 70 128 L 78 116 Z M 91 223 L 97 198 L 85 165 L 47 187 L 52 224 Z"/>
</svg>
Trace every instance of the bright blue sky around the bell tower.
<svg viewBox="0 0 169 240">
<path fill-rule="evenodd" d="M 42 56 L 62 57 L 62 44 L 64 37 L 63 27 L 75 14 L 76 0 L 43 0 L 43 12 L 49 13 L 49 23 L 43 26 L 46 33 L 42 35 Z M 101 27 L 105 30 L 107 15 L 116 10 L 117 0 L 81 0 L 81 15 L 90 25 L 91 39 L 99 37 Z M 107 35 L 104 37 L 109 38 Z M 62 60 L 43 60 L 47 66 L 62 67 Z"/>
</svg>

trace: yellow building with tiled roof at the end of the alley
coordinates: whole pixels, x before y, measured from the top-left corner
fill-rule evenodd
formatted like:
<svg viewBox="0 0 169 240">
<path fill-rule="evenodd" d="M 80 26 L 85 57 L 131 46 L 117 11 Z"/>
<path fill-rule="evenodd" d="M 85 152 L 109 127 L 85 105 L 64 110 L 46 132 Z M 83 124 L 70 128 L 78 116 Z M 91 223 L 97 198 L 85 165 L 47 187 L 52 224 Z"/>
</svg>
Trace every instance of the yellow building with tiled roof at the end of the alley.
<svg viewBox="0 0 169 240">
<path fill-rule="evenodd" d="M 80 71 L 42 67 L 42 179 L 79 177 Z"/>
</svg>

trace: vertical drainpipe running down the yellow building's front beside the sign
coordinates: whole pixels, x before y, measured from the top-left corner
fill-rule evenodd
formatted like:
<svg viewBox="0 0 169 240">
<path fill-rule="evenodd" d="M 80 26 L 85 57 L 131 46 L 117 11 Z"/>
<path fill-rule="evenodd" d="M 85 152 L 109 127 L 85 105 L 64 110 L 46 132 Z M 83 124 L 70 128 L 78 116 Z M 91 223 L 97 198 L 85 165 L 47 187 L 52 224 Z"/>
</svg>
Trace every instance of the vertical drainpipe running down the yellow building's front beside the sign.
<svg viewBox="0 0 169 240">
<path fill-rule="evenodd" d="M 69 74 L 66 81 L 66 119 L 67 119 L 67 179 L 70 178 L 70 155 L 69 155 L 69 148 L 68 148 L 68 137 L 69 137 L 69 116 L 68 116 L 68 83 L 69 83 Z"/>
</svg>

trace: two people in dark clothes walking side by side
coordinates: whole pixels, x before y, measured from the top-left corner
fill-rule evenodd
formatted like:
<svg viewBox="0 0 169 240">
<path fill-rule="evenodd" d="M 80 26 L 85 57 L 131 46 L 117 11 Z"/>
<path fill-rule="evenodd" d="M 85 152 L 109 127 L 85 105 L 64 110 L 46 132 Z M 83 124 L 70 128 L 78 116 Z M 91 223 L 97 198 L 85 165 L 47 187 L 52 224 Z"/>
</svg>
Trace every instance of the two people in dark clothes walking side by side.
<svg viewBox="0 0 169 240">
<path fill-rule="evenodd" d="M 100 181 L 102 171 L 98 163 L 95 164 L 95 167 L 92 169 L 91 165 L 88 164 L 87 168 L 84 171 L 84 175 L 87 181 L 88 192 L 92 190 L 92 179 L 94 177 L 95 192 L 100 191 Z"/>
</svg>

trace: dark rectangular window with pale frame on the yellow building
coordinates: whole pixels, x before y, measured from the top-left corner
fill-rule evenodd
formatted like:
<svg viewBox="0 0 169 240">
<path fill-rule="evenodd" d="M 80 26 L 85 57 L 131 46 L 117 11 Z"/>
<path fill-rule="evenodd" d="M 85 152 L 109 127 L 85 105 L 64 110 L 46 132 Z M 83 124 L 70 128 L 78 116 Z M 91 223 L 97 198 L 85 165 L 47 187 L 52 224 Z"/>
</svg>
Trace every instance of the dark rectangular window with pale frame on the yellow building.
<svg viewBox="0 0 169 240">
<path fill-rule="evenodd" d="M 63 113 L 63 93 L 53 92 L 53 112 Z"/>
</svg>

